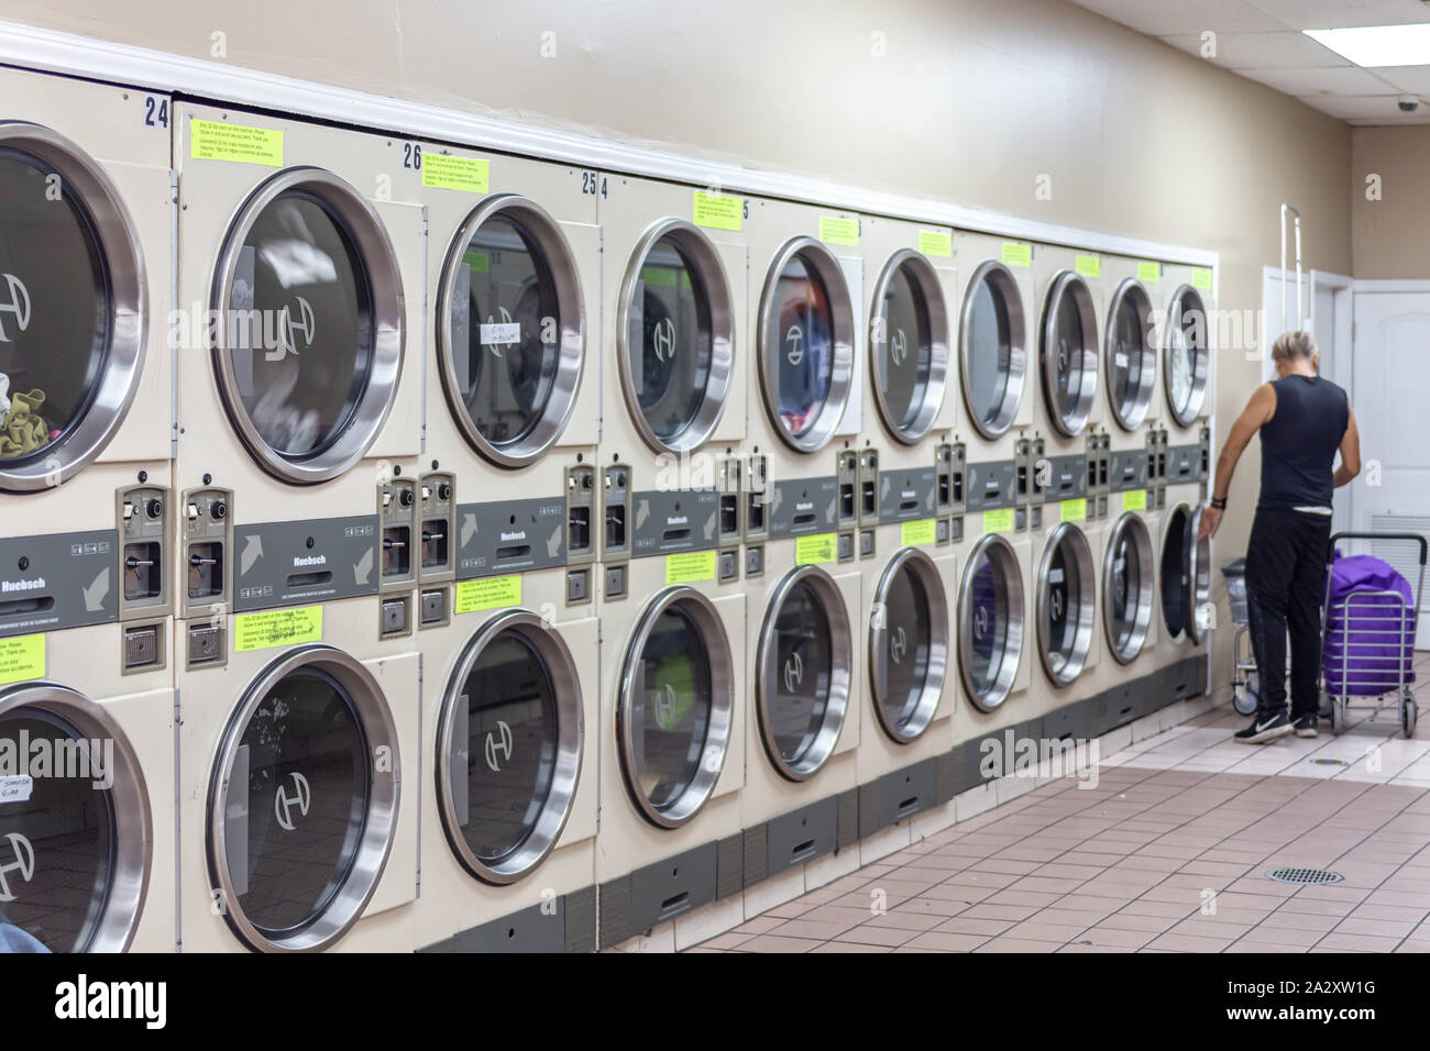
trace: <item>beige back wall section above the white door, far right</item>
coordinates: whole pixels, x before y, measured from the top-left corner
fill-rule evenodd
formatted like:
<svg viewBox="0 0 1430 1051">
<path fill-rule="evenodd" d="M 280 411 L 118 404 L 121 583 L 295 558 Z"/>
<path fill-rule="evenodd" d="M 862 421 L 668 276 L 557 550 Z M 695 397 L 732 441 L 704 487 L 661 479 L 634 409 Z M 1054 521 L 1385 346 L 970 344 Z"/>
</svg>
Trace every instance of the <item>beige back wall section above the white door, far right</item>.
<svg viewBox="0 0 1430 1051">
<path fill-rule="evenodd" d="M 1351 132 L 1351 263 L 1357 277 L 1430 277 L 1430 127 Z M 1380 176 L 1380 200 L 1366 177 Z"/>
</svg>

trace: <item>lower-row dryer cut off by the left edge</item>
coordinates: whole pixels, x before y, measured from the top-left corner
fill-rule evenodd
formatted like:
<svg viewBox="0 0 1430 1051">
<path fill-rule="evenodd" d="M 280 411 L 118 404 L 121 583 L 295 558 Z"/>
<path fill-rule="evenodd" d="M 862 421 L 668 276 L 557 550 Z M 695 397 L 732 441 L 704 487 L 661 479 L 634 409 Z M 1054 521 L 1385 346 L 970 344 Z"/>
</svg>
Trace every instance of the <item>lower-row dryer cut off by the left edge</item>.
<svg viewBox="0 0 1430 1051">
<path fill-rule="evenodd" d="M 149 643 L 164 653 L 170 623 Z M 0 942 L 173 952 L 174 689 L 120 623 L 0 639 Z"/>
</svg>

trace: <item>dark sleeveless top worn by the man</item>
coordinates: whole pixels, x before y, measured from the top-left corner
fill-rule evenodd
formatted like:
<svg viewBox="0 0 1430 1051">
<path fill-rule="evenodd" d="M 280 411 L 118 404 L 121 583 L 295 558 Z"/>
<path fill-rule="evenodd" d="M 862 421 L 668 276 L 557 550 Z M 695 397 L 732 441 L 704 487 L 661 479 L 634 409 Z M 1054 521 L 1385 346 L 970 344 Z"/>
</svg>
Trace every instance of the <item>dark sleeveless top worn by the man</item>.
<svg viewBox="0 0 1430 1051">
<path fill-rule="evenodd" d="M 1276 412 L 1261 425 L 1258 506 L 1330 508 L 1336 450 L 1350 423 L 1350 400 L 1321 376 L 1287 376 L 1271 386 Z"/>
</svg>

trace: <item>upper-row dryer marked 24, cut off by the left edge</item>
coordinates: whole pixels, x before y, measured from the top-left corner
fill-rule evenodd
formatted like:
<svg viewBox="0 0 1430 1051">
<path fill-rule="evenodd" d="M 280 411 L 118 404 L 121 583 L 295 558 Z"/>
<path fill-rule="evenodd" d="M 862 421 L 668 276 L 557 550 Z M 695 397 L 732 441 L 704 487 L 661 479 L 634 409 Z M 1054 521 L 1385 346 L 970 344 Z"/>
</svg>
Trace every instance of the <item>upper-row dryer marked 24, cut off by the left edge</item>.
<svg viewBox="0 0 1430 1051">
<path fill-rule="evenodd" d="M 0 70 L 0 636 L 126 623 L 173 581 L 170 100 Z"/>
</svg>

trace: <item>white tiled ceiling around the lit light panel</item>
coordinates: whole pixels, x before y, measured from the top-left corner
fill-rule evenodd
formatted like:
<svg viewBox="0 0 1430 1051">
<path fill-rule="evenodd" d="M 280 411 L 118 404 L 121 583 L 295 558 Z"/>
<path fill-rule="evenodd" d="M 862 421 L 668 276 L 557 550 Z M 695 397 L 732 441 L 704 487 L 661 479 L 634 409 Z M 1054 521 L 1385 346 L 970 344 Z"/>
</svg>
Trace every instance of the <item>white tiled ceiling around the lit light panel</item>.
<svg viewBox="0 0 1430 1051">
<path fill-rule="evenodd" d="M 1197 57 L 1203 51 L 1203 33 L 1216 33 L 1216 57 L 1208 61 L 1353 124 L 1430 124 L 1430 54 L 1424 66 L 1361 69 L 1301 33 L 1430 21 L 1430 0 L 1074 3 Z M 1413 114 L 1396 106 L 1403 94 L 1420 97 L 1420 109 Z"/>
</svg>

